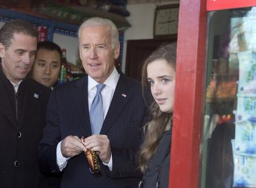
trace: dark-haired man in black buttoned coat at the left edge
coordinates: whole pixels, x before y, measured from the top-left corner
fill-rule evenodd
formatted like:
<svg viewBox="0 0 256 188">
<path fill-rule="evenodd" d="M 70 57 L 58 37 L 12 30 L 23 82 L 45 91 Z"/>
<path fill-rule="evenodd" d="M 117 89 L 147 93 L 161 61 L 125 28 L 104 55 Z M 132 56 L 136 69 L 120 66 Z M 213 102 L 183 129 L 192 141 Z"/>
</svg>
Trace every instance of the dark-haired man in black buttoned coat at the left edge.
<svg viewBox="0 0 256 188">
<path fill-rule="evenodd" d="M 26 79 L 36 44 L 27 21 L 9 21 L 0 30 L 0 187 L 39 186 L 38 144 L 51 90 Z"/>
</svg>

